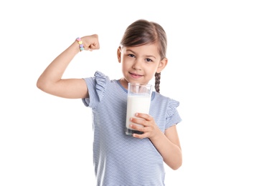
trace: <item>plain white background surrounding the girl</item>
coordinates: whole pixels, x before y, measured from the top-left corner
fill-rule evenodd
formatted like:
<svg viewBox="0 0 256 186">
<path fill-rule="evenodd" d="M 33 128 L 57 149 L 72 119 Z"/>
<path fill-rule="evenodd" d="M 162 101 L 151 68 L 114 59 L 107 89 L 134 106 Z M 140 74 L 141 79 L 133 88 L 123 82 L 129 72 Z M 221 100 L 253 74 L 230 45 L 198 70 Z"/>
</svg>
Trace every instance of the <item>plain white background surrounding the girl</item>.
<svg viewBox="0 0 256 186">
<path fill-rule="evenodd" d="M 116 49 L 137 19 L 169 39 L 161 93 L 180 102 L 184 162 L 166 185 L 256 185 L 253 1 L 1 1 L 0 185 L 94 185 L 91 112 L 37 89 L 77 36 L 98 34 L 65 77 L 121 77 Z M 136 174 L 136 172 L 134 172 Z"/>
</svg>

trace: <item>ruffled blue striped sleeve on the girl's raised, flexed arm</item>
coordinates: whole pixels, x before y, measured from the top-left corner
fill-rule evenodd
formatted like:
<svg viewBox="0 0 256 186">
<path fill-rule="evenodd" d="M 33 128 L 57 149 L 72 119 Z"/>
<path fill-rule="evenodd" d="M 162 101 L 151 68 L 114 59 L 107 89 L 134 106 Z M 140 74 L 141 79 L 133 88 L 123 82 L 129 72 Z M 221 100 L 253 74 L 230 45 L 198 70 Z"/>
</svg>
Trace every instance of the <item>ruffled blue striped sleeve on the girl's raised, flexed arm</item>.
<svg viewBox="0 0 256 186">
<path fill-rule="evenodd" d="M 108 77 L 102 72 L 95 72 L 94 77 L 85 78 L 89 98 L 83 98 L 82 102 L 86 107 L 96 107 L 105 93 Z"/>
</svg>

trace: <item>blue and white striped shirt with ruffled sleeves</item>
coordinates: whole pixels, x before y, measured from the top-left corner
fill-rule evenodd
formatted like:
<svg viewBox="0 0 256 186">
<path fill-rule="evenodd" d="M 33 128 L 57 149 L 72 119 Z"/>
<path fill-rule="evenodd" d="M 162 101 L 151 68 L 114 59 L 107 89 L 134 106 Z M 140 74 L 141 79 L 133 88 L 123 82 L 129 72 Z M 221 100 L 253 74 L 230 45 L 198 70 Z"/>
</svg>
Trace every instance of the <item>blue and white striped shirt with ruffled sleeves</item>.
<svg viewBox="0 0 256 186">
<path fill-rule="evenodd" d="M 97 186 L 162 186 L 163 158 L 148 138 L 125 134 L 127 89 L 102 72 L 85 78 L 90 98 L 82 99 L 93 112 L 93 163 Z M 152 93 L 149 114 L 159 129 L 181 122 L 179 102 Z"/>
</svg>

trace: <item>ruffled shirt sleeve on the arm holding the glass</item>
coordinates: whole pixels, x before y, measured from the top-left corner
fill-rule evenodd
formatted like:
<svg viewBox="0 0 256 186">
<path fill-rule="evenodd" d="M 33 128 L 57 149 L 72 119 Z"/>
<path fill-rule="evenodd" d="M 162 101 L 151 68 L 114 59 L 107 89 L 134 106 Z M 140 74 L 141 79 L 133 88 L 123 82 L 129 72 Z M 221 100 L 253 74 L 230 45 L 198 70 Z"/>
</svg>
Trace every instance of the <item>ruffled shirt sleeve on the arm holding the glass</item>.
<svg viewBox="0 0 256 186">
<path fill-rule="evenodd" d="M 169 99 L 166 115 L 166 129 L 181 122 L 181 117 L 179 116 L 179 112 L 177 110 L 178 106 L 179 102 L 174 99 Z"/>
</svg>

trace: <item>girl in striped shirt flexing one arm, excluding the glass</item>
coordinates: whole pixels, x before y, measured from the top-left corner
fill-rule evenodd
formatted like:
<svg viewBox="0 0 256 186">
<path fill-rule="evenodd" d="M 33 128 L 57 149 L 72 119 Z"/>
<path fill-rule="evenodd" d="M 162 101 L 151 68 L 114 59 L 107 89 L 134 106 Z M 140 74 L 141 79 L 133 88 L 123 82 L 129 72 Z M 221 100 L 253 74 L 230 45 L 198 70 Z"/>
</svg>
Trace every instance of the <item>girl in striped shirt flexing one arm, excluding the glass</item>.
<svg viewBox="0 0 256 186">
<path fill-rule="evenodd" d="M 166 33 L 152 21 L 140 19 L 125 30 L 117 50 L 123 77 L 109 79 L 102 72 L 84 79 L 62 79 L 73 57 L 83 50 L 100 48 L 98 35 L 77 38 L 44 70 L 37 81 L 42 91 L 58 97 L 82 99 L 93 111 L 93 160 L 97 185 L 164 185 L 163 162 L 181 166 L 182 154 L 176 124 L 181 122 L 179 102 L 159 93 L 161 71 L 166 67 Z M 131 118 L 125 134 L 128 82 L 148 84 L 155 76 L 156 92 L 149 114 Z M 138 127 L 137 124 L 143 125 Z"/>
</svg>

